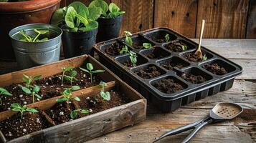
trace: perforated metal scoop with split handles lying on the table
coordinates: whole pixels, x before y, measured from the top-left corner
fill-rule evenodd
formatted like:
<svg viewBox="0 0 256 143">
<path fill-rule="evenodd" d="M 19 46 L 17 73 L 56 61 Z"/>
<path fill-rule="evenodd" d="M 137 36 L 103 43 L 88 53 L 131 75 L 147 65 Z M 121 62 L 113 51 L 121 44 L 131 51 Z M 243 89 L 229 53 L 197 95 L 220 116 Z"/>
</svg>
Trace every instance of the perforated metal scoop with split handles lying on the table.
<svg viewBox="0 0 256 143">
<path fill-rule="evenodd" d="M 233 119 L 234 117 L 237 117 L 239 114 L 241 114 L 242 111 L 243 111 L 242 107 L 240 107 L 240 105 L 238 104 L 219 103 L 215 105 L 215 107 L 210 111 L 209 117 L 207 117 L 206 119 L 202 119 L 202 120 L 199 120 L 198 122 L 194 122 L 184 127 L 179 127 L 177 129 L 173 129 L 169 132 L 166 132 L 165 134 L 161 135 L 161 137 L 156 139 L 154 142 L 157 142 L 158 140 L 163 139 L 163 137 L 179 134 L 189 129 L 194 129 L 183 141 L 183 143 L 189 142 L 189 140 L 192 139 L 192 137 L 194 137 L 194 135 L 197 132 L 199 132 L 199 130 L 202 129 L 202 127 L 204 127 L 205 125 L 212 124 L 214 122 L 220 122 L 225 119 Z"/>
</svg>

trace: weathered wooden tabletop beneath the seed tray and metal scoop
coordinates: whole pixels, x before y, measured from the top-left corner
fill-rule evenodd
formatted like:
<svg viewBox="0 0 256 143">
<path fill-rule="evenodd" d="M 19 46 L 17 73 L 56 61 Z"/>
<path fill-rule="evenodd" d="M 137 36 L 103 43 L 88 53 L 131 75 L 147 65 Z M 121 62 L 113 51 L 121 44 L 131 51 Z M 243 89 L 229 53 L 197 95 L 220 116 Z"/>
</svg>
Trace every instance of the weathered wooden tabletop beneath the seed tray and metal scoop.
<svg viewBox="0 0 256 143">
<path fill-rule="evenodd" d="M 194 39 L 197 41 L 197 39 Z M 169 114 L 148 106 L 147 119 L 88 142 L 153 142 L 164 132 L 207 117 L 218 102 L 234 102 L 244 108 L 237 118 L 204 127 L 191 142 L 256 142 L 256 39 L 204 39 L 202 45 L 240 64 L 244 72 L 232 89 L 192 102 Z M 15 62 L 0 61 L 0 74 L 15 71 Z M 189 132 L 159 142 L 181 142 Z"/>
</svg>

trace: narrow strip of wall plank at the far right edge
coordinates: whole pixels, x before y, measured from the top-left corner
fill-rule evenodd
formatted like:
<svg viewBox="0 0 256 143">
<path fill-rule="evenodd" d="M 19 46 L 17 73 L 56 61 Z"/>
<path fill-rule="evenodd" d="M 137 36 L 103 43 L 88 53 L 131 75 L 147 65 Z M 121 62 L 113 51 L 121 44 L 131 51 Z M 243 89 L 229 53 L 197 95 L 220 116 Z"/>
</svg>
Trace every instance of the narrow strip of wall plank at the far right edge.
<svg viewBox="0 0 256 143">
<path fill-rule="evenodd" d="M 256 38 L 256 1 L 250 0 L 246 38 Z"/>
</svg>

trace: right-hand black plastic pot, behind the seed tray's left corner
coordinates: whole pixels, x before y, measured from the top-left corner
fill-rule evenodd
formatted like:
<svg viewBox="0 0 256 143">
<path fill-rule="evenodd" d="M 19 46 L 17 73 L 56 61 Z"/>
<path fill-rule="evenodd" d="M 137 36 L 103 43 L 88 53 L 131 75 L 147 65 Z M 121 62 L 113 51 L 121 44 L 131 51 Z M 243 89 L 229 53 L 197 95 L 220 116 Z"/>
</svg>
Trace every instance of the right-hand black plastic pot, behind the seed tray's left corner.
<svg viewBox="0 0 256 143">
<path fill-rule="evenodd" d="M 113 19 L 99 18 L 99 28 L 97 34 L 97 43 L 100 41 L 107 41 L 119 36 L 120 27 L 123 21 L 123 14 Z"/>
</svg>

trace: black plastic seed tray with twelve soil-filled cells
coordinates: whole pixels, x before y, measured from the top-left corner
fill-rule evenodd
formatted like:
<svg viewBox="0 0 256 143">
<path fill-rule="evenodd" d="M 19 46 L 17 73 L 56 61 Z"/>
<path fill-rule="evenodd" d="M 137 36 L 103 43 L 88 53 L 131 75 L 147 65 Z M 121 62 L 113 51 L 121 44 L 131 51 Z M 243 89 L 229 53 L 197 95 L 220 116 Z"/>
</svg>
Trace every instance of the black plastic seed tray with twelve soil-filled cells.
<svg viewBox="0 0 256 143">
<path fill-rule="evenodd" d="M 166 34 L 170 41 L 166 41 Z M 163 112 L 227 90 L 232 87 L 234 77 L 242 74 L 241 66 L 203 46 L 207 60 L 196 59 L 198 44 L 171 29 L 156 28 L 133 34 L 133 46 L 125 44 L 124 38 L 96 44 L 100 62 Z M 144 42 L 151 43 L 153 48 L 143 49 Z M 124 45 L 136 52 L 135 67 L 129 64 L 129 54 L 119 53 Z"/>
</svg>

